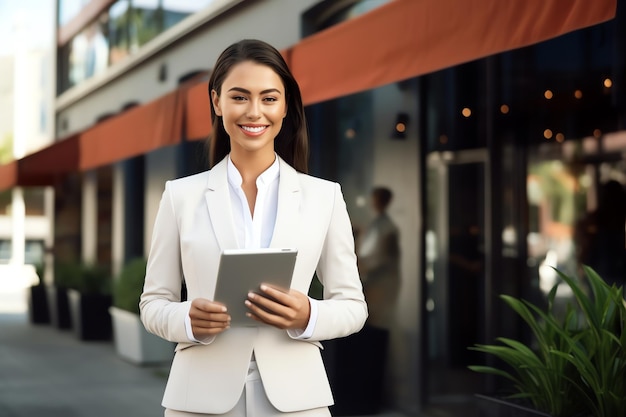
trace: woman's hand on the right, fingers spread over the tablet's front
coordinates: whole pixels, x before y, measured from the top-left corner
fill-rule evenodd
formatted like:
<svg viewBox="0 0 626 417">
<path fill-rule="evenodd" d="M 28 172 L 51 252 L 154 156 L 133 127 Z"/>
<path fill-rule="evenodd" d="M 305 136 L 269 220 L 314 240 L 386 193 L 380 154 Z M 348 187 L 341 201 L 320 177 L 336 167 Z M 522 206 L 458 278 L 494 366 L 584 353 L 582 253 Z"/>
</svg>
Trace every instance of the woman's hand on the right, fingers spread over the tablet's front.
<svg viewBox="0 0 626 417">
<path fill-rule="evenodd" d="M 261 292 L 248 293 L 248 317 L 279 329 L 306 329 L 311 314 L 309 297 L 300 291 L 289 292 L 261 285 Z"/>
</svg>

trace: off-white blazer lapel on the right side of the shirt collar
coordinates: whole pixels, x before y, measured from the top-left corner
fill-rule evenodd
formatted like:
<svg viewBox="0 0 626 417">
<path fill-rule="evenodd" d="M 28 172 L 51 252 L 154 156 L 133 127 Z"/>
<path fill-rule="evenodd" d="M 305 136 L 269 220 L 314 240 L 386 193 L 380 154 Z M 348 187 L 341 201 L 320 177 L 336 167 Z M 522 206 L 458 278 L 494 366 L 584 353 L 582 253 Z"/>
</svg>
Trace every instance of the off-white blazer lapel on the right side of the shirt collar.
<svg viewBox="0 0 626 417">
<path fill-rule="evenodd" d="M 270 247 L 294 246 L 294 238 L 299 236 L 297 229 L 300 217 L 302 193 L 298 172 L 278 157 L 280 182 L 278 183 L 278 210 Z"/>
</svg>

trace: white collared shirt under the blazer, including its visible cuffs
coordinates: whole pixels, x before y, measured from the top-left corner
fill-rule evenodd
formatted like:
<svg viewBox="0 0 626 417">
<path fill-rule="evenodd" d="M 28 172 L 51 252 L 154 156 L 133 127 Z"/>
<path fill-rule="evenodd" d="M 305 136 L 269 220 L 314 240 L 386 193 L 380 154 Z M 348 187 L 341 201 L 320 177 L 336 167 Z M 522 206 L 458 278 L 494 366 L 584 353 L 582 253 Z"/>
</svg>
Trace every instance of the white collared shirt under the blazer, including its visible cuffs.
<svg viewBox="0 0 626 417">
<path fill-rule="evenodd" d="M 278 211 L 278 184 L 280 182 L 278 157 L 256 180 L 257 196 L 253 212 L 250 212 L 248 199 L 241 188 L 243 182 L 241 174 L 235 164 L 232 163 L 230 155 L 227 164 L 228 188 L 239 248 L 268 248 L 272 241 Z M 295 339 L 308 339 L 313 335 L 313 329 L 317 322 L 317 300 L 309 297 L 309 305 L 311 312 L 306 329 L 304 331 L 287 330 L 289 335 Z M 214 336 L 202 341 L 193 336 L 189 314 L 185 316 L 185 329 L 187 330 L 187 337 L 193 342 L 210 343 L 213 341 Z"/>
</svg>

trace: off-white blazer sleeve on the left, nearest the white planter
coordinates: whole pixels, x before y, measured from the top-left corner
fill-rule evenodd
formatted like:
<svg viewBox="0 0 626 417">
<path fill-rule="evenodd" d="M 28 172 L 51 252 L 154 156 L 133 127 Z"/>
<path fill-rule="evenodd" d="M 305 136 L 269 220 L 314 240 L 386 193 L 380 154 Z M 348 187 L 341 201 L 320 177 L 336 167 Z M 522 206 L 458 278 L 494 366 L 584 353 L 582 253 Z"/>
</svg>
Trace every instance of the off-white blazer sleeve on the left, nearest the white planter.
<svg viewBox="0 0 626 417">
<path fill-rule="evenodd" d="M 190 302 L 181 302 L 183 272 L 173 197 L 168 181 L 154 222 L 139 309 L 146 330 L 180 343 L 189 342 L 185 317 L 189 314 Z"/>
</svg>

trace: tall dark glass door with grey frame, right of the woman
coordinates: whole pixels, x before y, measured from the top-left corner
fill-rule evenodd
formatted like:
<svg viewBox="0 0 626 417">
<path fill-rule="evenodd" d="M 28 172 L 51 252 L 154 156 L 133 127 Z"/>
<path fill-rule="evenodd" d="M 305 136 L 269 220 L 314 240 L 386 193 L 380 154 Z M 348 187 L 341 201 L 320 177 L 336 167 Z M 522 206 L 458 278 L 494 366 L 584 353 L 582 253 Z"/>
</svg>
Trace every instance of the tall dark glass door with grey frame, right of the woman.
<svg viewBox="0 0 626 417">
<path fill-rule="evenodd" d="M 428 157 L 426 403 L 466 416 L 482 383 L 467 366 L 479 361 L 468 346 L 482 340 L 485 323 L 486 161 L 485 149 Z"/>
</svg>

